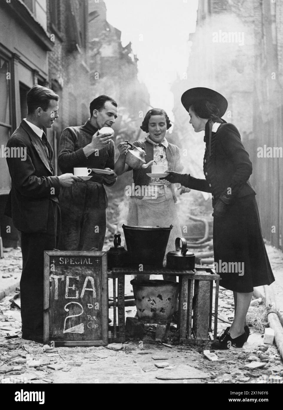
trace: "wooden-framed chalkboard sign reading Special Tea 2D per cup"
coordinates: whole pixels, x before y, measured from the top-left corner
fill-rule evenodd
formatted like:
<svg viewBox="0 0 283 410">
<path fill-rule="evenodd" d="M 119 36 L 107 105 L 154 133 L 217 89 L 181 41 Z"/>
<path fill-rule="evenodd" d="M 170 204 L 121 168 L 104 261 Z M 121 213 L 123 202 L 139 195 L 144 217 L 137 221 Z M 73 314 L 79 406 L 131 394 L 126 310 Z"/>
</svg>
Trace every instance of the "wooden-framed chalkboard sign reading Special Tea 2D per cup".
<svg viewBox="0 0 283 410">
<path fill-rule="evenodd" d="M 106 255 L 106 252 L 44 252 L 44 343 L 108 344 Z"/>
</svg>

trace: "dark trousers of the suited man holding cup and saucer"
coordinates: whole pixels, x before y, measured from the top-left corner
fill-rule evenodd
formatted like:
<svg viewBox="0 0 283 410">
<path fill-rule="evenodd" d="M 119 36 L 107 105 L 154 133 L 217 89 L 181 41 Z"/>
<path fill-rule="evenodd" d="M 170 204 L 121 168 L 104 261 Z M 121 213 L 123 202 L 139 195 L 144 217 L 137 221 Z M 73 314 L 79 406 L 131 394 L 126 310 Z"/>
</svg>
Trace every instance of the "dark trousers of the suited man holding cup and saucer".
<svg viewBox="0 0 283 410">
<path fill-rule="evenodd" d="M 49 201 L 47 232 L 21 232 L 23 271 L 20 278 L 22 332 L 43 335 L 44 251 L 57 248 L 60 235 L 60 210 Z"/>
</svg>

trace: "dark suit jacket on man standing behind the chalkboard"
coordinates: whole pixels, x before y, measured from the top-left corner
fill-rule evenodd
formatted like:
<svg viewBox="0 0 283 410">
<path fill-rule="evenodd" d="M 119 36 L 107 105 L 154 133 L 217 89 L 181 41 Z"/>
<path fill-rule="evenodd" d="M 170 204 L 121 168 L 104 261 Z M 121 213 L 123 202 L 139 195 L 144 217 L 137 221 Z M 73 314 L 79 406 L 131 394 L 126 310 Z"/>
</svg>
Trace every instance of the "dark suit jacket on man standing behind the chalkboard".
<svg viewBox="0 0 283 410">
<path fill-rule="evenodd" d="M 13 219 L 14 226 L 23 232 L 46 232 L 48 201 L 58 200 L 59 178 L 54 171 L 38 135 L 22 121 L 12 134 L 7 147 L 26 150 L 26 159 L 6 158 L 11 175 L 11 191 L 5 215 Z M 50 161 L 53 150 L 48 143 Z"/>
</svg>

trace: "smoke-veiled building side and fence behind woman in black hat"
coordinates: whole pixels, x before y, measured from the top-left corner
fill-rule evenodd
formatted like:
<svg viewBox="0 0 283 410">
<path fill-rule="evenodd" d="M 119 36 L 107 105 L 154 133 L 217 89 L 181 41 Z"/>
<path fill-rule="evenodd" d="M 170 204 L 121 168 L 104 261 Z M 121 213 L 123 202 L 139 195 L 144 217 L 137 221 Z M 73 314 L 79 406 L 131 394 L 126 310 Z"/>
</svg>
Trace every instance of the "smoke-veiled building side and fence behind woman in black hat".
<svg viewBox="0 0 283 410">
<path fill-rule="evenodd" d="M 183 91 L 208 87 L 228 100 L 224 116 L 236 125 L 253 163 L 251 183 L 263 235 L 282 248 L 283 234 L 283 5 L 281 2 L 199 0 L 188 70 L 172 84 L 176 132 L 195 147 L 188 171 L 202 178 L 204 146 L 181 106 Z M 260 155 L 277 147 L 273 155 Z M 261 149 L 262 148 L 262 149 Z M 199 158 L 197 160 L 196 158 Z"/>
</svg>

